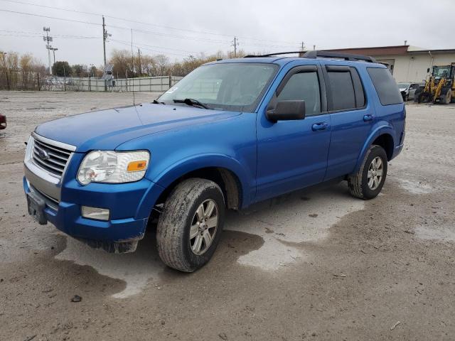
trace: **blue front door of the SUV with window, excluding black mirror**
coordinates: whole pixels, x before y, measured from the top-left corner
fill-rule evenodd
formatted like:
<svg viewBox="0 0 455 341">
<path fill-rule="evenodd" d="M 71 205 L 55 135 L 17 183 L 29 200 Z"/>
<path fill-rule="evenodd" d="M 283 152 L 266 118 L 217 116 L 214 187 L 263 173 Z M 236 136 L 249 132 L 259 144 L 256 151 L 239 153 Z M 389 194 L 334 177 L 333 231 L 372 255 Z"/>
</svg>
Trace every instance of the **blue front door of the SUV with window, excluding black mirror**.
<svg viewBox="0 0 455 341">
<path fill-rule="evenodd" d="M 304 119 L 272 122 L 267 109 L 282 100 L 304 100 Z M 291 68 L 278 85 L 257 124 L 256 201 L 323 181 L 331 118 L 319 63 Z"/>
</svg>

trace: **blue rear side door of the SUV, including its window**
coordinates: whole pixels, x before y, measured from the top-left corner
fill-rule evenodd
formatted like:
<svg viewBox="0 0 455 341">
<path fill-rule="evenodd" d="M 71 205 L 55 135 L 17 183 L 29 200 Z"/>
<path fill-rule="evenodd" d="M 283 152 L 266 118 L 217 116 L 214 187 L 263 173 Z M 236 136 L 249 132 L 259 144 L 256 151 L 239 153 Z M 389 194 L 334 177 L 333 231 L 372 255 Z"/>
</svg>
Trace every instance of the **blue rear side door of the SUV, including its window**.
<svg viewBox="0 0 455 341">
<path fill-rule="evenodd" d="M 332 134 L 325 180 L 352 173 L 375 122 L 373 104 L 365 97 L 355 67 L 321 62 L 326 80 Z"/>
</svg>

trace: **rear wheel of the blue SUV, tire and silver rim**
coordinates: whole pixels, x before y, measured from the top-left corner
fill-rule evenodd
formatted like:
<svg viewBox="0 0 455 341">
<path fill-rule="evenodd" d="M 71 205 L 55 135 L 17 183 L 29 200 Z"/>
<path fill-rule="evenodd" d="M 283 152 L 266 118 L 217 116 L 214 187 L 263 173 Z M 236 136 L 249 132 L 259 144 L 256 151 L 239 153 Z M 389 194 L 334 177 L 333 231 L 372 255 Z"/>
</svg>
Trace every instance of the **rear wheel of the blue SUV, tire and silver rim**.
<svg viewBox="0 0 455 341">
<path fill-rule="evenodd" d="M 379 169 L 378 171 L 375 171 L 376 173 L 373 172 L 373 174 L 375 174 L 373 177 L 377 179 L 377 182 L 373 180 L 372 186 L 372 183 L 369 180 L 373 177 L 368 178 L 368 175 L 370 170 L 375 168 L 375 166 L 378 166 L 378 159 L 381 163 L 382 176 L 380 178 L 378 176 Z M 375 165 L 373 165 L 373 161 L 375 161 Z M 370 146 L 358 172 L 348 177 L 348 188 L 350 194 L 363 200 L 373 199 L 373 197 L 378 196 L 382 190 L 386 176 L 387 154 L 385 153 L 384 148 L 376 145 Z"/>
</svg>

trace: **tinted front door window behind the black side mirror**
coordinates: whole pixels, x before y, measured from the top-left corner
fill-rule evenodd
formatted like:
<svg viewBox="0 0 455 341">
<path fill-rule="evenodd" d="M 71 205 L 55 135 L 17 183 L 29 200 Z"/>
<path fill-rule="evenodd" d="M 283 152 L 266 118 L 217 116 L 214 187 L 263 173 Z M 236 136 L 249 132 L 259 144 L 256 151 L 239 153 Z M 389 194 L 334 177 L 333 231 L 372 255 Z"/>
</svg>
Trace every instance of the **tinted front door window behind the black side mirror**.
<svg viewBox="0 0 455 341">
<path fill-rule="evenodd" d="M 321 112 L 321 95 L 319 94 L 319 80 L 316 72 L 299 72 L 289 78 L 278 101 L 304 100 L 306 115 Z"/>
</svg>

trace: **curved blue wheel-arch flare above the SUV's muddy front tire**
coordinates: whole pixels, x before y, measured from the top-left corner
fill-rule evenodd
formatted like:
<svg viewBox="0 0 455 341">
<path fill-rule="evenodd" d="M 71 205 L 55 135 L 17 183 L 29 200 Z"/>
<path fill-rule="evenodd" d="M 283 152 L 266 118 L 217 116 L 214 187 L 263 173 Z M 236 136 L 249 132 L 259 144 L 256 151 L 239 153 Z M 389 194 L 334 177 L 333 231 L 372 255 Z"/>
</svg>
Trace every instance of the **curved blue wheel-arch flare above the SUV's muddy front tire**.
<svg viewBox="0 0 455 341">
<path fill-rule="evenodd" d="M 250 205 L 255 196 L 255 180 L 247 175 L 245 168 L 239 161 L 225 154 L 198 154 L 183 158 L 164 168 L 164 171 L 156 175 L 152 181 L 163 188 L 167 188 L 183 175 L 208 167 L 225 168 L 234 173 L 241 185 L 242 207 Z"/>
</svg>

